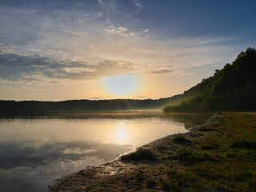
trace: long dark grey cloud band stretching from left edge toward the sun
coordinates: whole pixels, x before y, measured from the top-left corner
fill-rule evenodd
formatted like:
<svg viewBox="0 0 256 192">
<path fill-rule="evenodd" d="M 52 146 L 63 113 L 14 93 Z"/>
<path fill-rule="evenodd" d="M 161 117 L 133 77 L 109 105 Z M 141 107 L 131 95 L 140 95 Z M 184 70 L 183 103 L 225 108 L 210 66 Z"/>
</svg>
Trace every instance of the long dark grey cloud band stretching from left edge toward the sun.
<svg viewBox="0 0 256 192">
<path fill-rule="evenodd" d="M 0 52 L 1 53 L 1 52 Z M 103 60 L 96 63 L 55 60 L 32 54 L 0 54 L 0 79 L 12 82 L 49 81 L 58 79 L 86 80 L 130 74 L 134 64 Z"/>
</svg>

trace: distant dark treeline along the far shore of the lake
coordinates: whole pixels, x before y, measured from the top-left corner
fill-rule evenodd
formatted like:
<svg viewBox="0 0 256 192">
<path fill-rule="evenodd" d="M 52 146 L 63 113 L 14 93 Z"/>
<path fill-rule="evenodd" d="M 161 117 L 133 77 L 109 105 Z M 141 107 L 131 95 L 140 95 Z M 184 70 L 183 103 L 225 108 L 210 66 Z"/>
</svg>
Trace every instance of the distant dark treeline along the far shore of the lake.
<svg viewBox="0 0 256 192">
<path fill-rule="evenodd" d="M 67 100 L 62 102 L 43 101 L 0 101 L 0 116 L 50 115 L 59 113 L 81 113 L 113 110 L 162 109 L 170 104 L 170 98 L 160 99 L 110 99 L 110 100 Z"/>
</svg>

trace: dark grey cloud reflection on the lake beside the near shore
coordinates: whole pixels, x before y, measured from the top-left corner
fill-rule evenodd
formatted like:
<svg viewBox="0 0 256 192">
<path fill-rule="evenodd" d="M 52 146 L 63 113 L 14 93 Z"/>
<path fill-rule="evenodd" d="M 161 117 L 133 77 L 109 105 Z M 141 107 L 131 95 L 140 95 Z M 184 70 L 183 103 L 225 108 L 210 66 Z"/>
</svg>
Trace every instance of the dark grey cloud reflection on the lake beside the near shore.
<svg viewBox="0 0 256 192">
<path fill-rule="evenodd" d="M 55 178 L 110 161 L 131 150 L 131 145 L 92 141 L 0 143 L 0 182 L 2 191 L 46 191 Z M 44 180 L 42 180 L 44 178 Z"/>
</svg>

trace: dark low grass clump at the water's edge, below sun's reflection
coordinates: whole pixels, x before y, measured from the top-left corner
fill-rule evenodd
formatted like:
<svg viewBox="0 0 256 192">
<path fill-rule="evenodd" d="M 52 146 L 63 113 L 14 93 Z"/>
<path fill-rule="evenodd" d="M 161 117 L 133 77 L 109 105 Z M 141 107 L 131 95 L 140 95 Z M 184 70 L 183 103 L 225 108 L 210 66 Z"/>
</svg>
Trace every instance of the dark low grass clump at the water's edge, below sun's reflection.
<svg viewBox="0 0 256 192">
<path fill-rule="evenodd" d="M 121 160 L 127 161 L 141 161 L 141 160 L 156 160 L 156 155 L 150 151 L 142 148 L 138 148 L 134 153 L 122 155 Z"/>
</svg>

